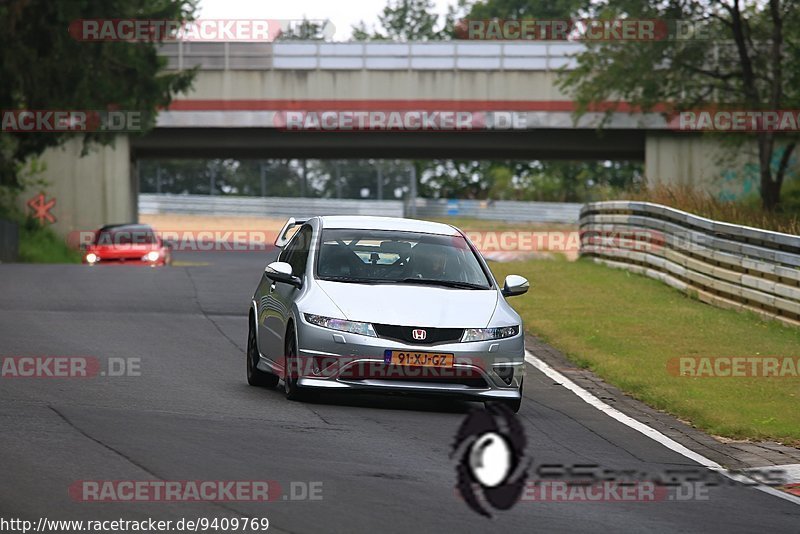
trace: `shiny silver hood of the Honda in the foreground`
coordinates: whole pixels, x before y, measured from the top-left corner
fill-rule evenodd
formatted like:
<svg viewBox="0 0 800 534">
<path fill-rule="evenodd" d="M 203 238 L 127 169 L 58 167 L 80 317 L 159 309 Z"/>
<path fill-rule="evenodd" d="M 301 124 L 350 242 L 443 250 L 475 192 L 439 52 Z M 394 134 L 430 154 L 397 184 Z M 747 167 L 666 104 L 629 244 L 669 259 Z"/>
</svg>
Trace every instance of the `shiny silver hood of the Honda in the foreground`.
<svg viewBox="0 0 800 534">
<path fill-rule="evenodd" d="M 317 283 L 345 318 L 398 326 L 482 328 L 488 326 L 499 298 L 495 290 L 326 280 Z"/>
</svg>

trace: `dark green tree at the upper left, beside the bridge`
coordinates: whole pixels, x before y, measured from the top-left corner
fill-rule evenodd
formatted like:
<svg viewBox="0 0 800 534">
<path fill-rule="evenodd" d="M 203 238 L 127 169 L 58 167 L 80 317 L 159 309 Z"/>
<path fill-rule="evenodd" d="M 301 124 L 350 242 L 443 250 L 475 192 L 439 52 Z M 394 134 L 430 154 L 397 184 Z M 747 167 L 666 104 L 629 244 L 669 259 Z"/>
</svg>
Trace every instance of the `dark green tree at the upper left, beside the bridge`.
<svg viewBox="0 0 800 534">
<path fill-rule="evenodd" d="M 189 89 L 192 71 L 164 73 L 155 42 L 81 42 L 67 31 L 79 19 L 186 21 L 194 0 L 6 0 L 0 3 L 0 109 L 139 111 L 145 129 L 173 94 Z M 103 132 L 0 135 L 0 188 L 22 186 L 25 163 L 83 135 L 84 150 L 109 144 Z"/>
</svg>

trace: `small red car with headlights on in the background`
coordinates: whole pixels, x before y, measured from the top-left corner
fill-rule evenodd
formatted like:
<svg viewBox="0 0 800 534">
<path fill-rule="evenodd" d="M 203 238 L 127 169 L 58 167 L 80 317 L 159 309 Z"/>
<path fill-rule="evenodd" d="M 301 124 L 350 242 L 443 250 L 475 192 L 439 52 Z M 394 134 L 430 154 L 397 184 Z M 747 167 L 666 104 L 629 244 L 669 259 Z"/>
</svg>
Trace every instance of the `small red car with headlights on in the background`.
<svg viewBox="0 0 800 534">
<path fill-rule="evenodd" d="M 170 265 L 172 250 L 146 224 L 118 224 L 95 232 L 93 242 L 84 249 L 83 262 L 89 265 Z"/>
</svg>

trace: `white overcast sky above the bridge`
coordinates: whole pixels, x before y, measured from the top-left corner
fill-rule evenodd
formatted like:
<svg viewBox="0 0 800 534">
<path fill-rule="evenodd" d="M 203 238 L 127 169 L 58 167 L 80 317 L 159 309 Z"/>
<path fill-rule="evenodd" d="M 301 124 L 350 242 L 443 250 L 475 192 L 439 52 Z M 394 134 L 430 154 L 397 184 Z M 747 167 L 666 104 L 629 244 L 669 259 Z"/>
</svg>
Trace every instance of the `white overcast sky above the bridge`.
<svg viewBox="0 0 800 534">
<path fill-rule="evenodd" d="M 350 27 L 360 20 L 378 22 L 387 0 L 201 0 L 198 18 L 204 19 L 330 19 L 334 40 L 350 38 Z M 447 12 L 448 0 L 434 0 L 436 12 Z M 452 0 L 455 4 L 455 0 Z"/>
</svg>

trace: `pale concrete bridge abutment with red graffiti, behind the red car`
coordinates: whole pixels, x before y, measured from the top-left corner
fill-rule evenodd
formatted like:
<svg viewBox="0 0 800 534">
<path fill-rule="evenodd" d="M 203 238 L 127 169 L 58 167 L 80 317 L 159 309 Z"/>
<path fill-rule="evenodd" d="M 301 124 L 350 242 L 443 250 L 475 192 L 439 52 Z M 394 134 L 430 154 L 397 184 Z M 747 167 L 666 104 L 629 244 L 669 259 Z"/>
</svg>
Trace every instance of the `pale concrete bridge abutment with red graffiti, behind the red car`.
<svg viewBox="0 0 800 534">
<path fill-rule="evenodd" d="M 56 217 L 53 229 L 66 236 L 75 230 L 93 230 L 104 224 L 134 221 L 137 217 L 138 184 L 133 180 L 128 136 L 120 135 L 114 146 L 96 147 L 80 157 L 82 140 L 48 149 L 41 161 L 44 190 L 30 188 L 20 196 L 23 209 L 29 199 L 44 192 L 55 199 L 50 210 Z"/>
</svg>

